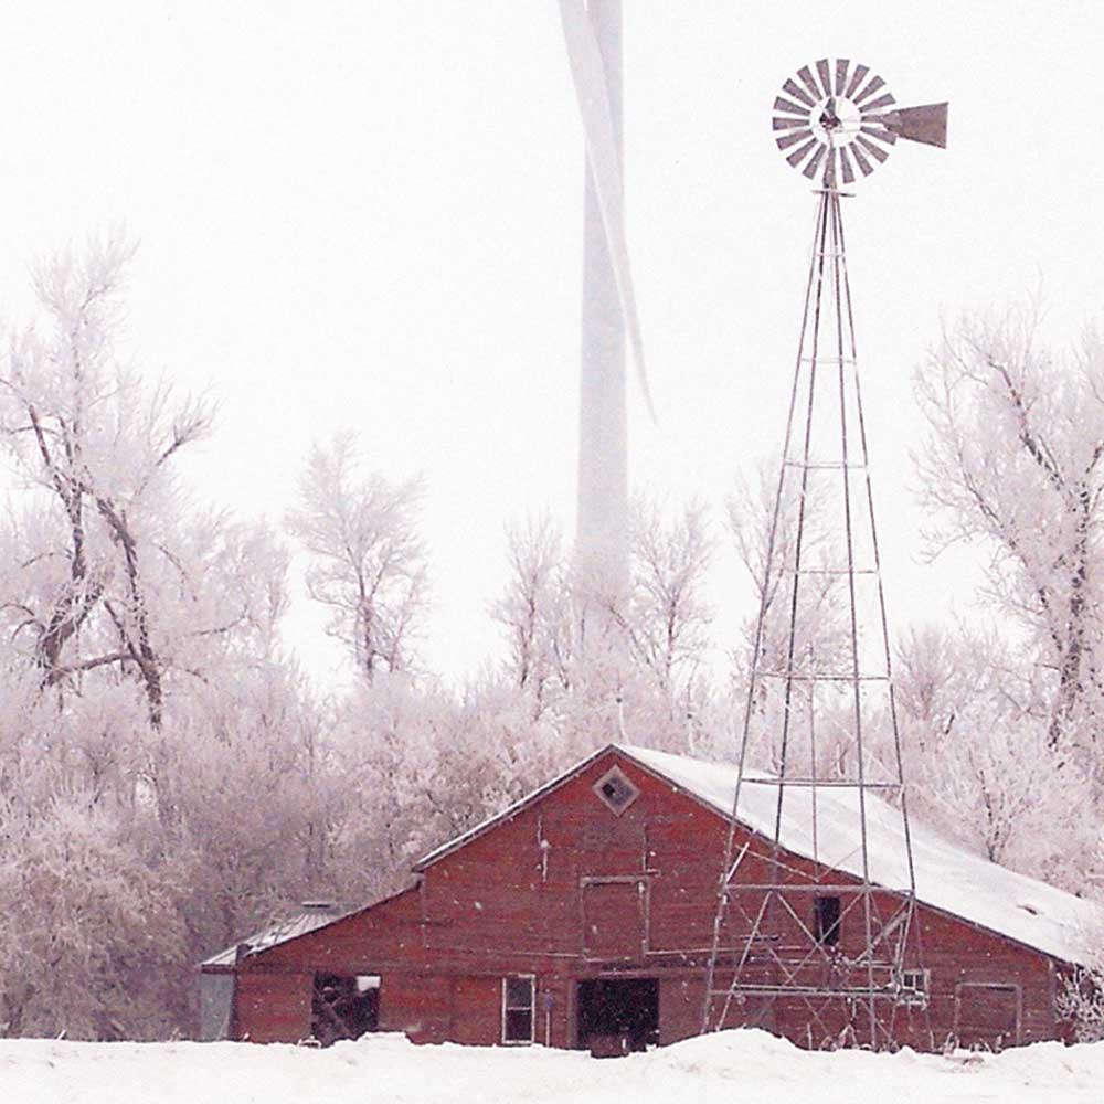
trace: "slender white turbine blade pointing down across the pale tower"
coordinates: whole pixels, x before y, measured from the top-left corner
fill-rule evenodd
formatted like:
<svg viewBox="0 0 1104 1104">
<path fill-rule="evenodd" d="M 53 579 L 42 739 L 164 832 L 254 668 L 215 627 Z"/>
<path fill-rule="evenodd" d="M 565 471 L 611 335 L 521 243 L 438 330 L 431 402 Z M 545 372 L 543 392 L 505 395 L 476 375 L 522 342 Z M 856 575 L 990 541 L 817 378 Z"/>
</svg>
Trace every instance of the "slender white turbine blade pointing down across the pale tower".
<svg viewBox="0 0 1104 1104">
<path fill-rule="evenodd" d="M 591 167 L 598 210 L 602 212 L 602 225 L 609 247 L 625 330 L 633 349 L 633 360 L 636 363 L 644 402 L 655 422 L 656 408 L 651 402 L 651 389 L 648 386 L 648 373 L 644 363 L 644 342 L 640 339 L 640 322 L 636 312 L 636 296 L 633 291 L 633 275 L 628 263 L 628 245 L 625 241 L 622 163 L 609 113 L 602 51 L 583 0 L 560 0 L 560 15 L 563 22 L 563 36 L 567 44 L 571 73 L 575 81 L 578 109 L 583 116 L 586 160 Z"/>
</svg>

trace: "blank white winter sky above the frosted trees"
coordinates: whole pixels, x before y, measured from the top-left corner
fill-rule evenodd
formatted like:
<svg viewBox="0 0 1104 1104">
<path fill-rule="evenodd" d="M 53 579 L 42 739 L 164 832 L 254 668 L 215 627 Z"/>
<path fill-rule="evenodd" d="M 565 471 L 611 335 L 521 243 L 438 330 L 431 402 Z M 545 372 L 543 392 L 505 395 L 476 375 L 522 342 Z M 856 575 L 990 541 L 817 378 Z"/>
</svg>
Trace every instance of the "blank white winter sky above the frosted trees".
<svg viewBox="0 0 1104 1104">
<path fill-rule="evenodd" d="M 900 144 L 845 210 L 900 630 L 966 608 L 919 559 L 911 375 L 963 306 L 1040 285 L 1059 342 L 1098 309 L 1104 8 L 625 0 L 628 240 L 660 424 L 633 394 L 636 486 L 716 509 L 781 439 L 814 200 L 774 147 L 800 65 L 848 56 L 949 149 Z M 26 264 L 125 221 L 130 340 L 220 426 L 199 497 L 278 521 L 310 442 L 423 471 L 450 676 L 497 646 L 503 524 L 573 526 L 582 135 L 553 0 L 11 0 L 0 8 L 0 307 Z M 718 644 L 746 583 L 718 561 Z M 298 607 L 290 638 L 332 652 Z"/>
</svg>

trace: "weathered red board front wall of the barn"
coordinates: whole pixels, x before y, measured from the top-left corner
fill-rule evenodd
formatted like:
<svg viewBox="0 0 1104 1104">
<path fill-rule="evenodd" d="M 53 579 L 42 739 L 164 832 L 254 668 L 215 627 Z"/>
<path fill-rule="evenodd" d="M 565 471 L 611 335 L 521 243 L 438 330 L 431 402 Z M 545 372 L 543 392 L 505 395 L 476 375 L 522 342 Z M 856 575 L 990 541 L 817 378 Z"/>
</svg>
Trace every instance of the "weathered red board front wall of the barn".
<svg viewBox="0 0 1104 1104">
<path fill-rule="evenodd" d="M 614 762 L 640 790 L 620 816 L 592 789 Z M 501 979 L 514 974 L 537 978 L 539 1042 L 575 1044 L 575 985 L 599 976 L 658 978 L 660 1041 L 696 1034 L 725 834 L 723 818 L 611 752 L 427 867 L 413 889 L 247 959 L 238 975 L 238 1037 L 301 1038 L 316 970 L 381 975 L 380 1027 L 422 1042 L 499 1042 Z M 741 834 L 737 846 L 744 842 L 744 878 L 761 877 L 768 847 Z M 795 883 L 825 877 L 809 860 L 787 863 Z M 835 872 L 830 881 L 848 880 Z M 794 899 L 804 917 L 813 895 Z M 884 914 L 892 903 L 887 893 L 878 904 Z M 923 1013 L 893 1011 L 902 1043 L 938 1045 L 948 1034 L 989 1045 L 1053 1038 L 1045 956 L 923 905 L 917 919 L 931 1005 Z M 773 930 L 781 941 L 799 931 L 784 914 Z M 733 922 L 722 941 L 739 946 L 744 934 Z M 862 942 L 859 917 L 847 917 L 841 949 L 857 953 Z M 837 1005 L 825 1015 L 831 1033 L 861 1021 Z M 749 1001 L 730 1010 L 725 1026 L 758 1022 L 817 1044 L 802 1037 L 806 1019 L 800 1002 Z"/>
</svg>

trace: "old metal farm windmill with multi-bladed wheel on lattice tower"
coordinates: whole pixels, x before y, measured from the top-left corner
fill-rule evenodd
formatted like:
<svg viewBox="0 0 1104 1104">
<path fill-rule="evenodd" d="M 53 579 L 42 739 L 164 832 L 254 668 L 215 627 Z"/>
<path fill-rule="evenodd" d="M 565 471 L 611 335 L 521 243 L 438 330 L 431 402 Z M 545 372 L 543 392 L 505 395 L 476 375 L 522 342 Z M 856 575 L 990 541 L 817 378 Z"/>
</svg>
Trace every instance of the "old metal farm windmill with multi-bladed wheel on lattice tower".
<svg viewBox="0 0 1104 1104">
<path fill-rule="evenodd" d="M 930 1044 L 840 182 L 869 176 L 899 139 L 945 146 L 946 121 L 946 104 L 898 107 L 880 76 L 847 59 L 798 70 L 774 102 L 777 146 L 816 182 L 817 214 L 705 1030 Z M 741 817 L 773 831 L 751 832 Z"/>
</svg>

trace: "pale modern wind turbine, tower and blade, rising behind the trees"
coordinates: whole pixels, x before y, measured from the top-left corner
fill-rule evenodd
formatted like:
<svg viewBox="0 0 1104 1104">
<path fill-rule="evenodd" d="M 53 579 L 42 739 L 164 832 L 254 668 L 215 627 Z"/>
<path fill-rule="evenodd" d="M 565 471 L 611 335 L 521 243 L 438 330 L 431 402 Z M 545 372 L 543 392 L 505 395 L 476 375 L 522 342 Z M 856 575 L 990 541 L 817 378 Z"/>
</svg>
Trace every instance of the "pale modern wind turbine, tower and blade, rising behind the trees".
<svg viewBox="0 0 1104 1104">
<path fill-rule="evenodd" d="M 584 628 L 598 612 L 588 596 L 628 592 L 626 336 L 652 410 L 625 242 L 620 8 L 620 0 L 560 0 L 586 150 L 575 542 Z"/>
</svg>

